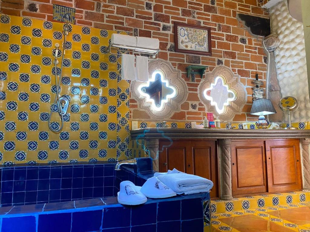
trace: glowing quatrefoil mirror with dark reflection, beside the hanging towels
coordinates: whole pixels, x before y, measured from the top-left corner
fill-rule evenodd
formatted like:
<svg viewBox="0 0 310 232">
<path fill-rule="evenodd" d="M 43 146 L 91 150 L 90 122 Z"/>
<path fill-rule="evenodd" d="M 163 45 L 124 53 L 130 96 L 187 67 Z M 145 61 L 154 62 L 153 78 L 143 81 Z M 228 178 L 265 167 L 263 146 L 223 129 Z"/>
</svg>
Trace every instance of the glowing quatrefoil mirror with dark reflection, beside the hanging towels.
<svg viewBox="0 0 310 232">
<path fill-rule="evenodd" d="M 159 70 L 153 72 L 148 82 L 140 84 L 138 91 L 156 111 L 161 111 L 165 103 L 177 93 L 175 87 L 169 85 L 164 73 Z"/>
</svg>

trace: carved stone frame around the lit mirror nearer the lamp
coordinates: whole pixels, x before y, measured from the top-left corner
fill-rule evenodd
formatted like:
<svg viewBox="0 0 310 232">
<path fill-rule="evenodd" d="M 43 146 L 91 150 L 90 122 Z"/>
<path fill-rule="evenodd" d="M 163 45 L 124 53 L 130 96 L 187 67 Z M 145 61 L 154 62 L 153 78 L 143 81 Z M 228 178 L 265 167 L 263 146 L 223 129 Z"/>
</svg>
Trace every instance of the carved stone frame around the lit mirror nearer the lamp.
<svg viewBox="0 0 310 232">
<path fill-rule="evenodd" d="M 204 96 L 204 91 L 210 88 L 211 84 L 215 84 L 215 79 L 220 76 L 229 89 L 236 93 L 236 99 L 231 101 L 225 108 L 222 114 L 219 114 L 211 101 Z M 198 86 L 198 97 L 200 101 L 206 106 L 208 112 L 212 112 L 215 117 L 219 116 L 222 121 L 231 121 L 235 114 L 241 114 L 243 106 L 247 101 L 246 87 L 240 82 L 240 76 L 234 74 L 228 67 L 218 66 L 212 72 L 206 74 L 206 78 L 201 81 Z"/>
</svg>

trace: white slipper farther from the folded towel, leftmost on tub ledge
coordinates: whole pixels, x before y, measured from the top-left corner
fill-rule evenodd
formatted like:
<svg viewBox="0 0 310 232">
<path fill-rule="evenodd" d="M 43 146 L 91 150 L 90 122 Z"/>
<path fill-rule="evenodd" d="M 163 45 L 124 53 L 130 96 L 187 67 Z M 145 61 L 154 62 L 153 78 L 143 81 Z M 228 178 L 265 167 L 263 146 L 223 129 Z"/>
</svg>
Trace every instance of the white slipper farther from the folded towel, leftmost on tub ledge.
<svg viewBox="0 0 310 232">
<path fill-rule="evenodd" d="M 117 201 L 120 204 L 138 205 L 144 204 L 148 200 L 131 181 L 122 181 L 119 189 Z"/>
</svg>

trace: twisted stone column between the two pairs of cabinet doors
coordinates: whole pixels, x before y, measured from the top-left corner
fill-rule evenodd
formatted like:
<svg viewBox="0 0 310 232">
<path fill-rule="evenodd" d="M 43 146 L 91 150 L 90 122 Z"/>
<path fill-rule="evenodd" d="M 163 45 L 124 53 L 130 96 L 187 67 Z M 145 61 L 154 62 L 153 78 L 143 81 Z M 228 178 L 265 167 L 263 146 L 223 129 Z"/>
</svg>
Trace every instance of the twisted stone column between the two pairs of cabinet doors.
<svg viewBox="0 0 310 232">
<path fill-rule="evenodd" d="M 219 175 L 221 186 L 221 200 L 232 200 L 232 175 L 231 175 L 231 153 L 230 139 L 219 141 Z"/>
</svg>

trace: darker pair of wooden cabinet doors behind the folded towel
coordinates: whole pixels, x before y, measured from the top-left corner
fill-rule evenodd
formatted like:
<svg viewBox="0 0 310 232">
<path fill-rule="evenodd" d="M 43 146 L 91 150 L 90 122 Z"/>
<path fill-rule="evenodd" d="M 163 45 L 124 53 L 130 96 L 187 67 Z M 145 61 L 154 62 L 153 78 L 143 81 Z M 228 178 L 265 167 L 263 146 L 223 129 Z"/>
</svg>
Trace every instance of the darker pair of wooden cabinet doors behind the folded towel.
<svg viewBox="0 0 310 232">
<path fill-rule="evenodd" d="M 179 171 L 210 179 L 214 186 L 212 198 L 219 197 L 216 141 L 175 140 L 159 141 L 159 171 L 176 168 Z"/>
</svg>

